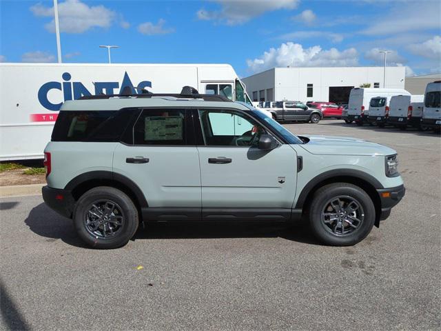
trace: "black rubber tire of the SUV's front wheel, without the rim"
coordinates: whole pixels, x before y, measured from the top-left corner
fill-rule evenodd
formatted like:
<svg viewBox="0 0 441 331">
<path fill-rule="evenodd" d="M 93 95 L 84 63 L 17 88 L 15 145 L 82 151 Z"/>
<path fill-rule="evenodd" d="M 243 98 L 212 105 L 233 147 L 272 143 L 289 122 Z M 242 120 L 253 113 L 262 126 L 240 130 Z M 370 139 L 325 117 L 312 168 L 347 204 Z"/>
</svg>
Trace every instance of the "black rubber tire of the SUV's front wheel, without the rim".
<svg viewBox="0 0 441 331">
<path fill-rule="evenodd" d="M 365 219 L 358 230 L 349 234 L 348 236 L 338 237 L 325 229 L 325 225 L 322 224 L 321 221 L 321 213 L 325 208 L 325 203 L 327 203 L 327 201 L 342 195 L 353 197 L 358 201 L 358 203 L 360 203 L 365 213 Z M 359 243 L 365 239 L 369 232 L 371 232 L 376 219 L 376 210 L 371 198 L 364 190 L 355 185 L 341 183 L 338 185 L 327 185 L 318 190 L 311 203 L 309 215 L 309 223 L 311 228 L 314 234 L 316 234 L 316 237 L 322 241 L 322 243 L 328 245 L 355 245 L 356 243 Z"/>
</svg>

